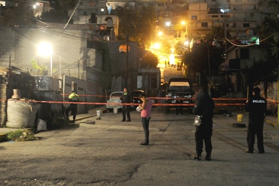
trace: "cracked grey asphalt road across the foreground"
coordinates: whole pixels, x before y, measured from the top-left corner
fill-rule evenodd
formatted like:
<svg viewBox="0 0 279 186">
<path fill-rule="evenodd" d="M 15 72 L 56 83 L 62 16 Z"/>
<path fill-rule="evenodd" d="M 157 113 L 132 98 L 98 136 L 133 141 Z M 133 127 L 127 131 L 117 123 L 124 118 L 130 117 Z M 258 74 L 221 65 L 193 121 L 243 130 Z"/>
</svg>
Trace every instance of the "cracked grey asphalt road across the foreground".
<svg viewBox="0 0 279 186">
<path fill-rule="evenodd" d="M 153 109 L 148 146 L 140 145 L 144 133 L 136 111 L 131 122 L 121 122 L 120 113 L 105 113 L 98 120 L 89 117 L 38 133 L 39 140 L 1 142 L 0 185 L 278 185 L 279 139 L 264 139 L 265 154 L 245 153 L 247 127 L 232 127 L 236 114 L 214 116 L 211 162 L 204 160 L 205 153 L 202 161 L 190 158 L 195 154 L 194 116 L 165 114 L 159 108 Z M 279 131 L 265 123 L 264 133 L 270 137 Z"/>
</svg>

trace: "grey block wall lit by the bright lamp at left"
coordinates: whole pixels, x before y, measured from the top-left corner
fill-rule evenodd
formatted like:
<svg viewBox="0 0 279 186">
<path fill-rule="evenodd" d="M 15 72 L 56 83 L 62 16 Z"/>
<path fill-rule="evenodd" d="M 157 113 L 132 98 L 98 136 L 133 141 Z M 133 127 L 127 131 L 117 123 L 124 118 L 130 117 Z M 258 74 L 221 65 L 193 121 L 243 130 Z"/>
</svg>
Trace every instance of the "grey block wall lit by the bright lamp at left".
<svg viewBox="0 0 279 186">
<path fill-rule="evenodd" d="M 41 75 L 32 66 L 34 60 L 39 66 L 45 65 L 50 75 L 50 56 L 38 54 L 38 45 L 49 42 L 53 48 L 52 75 L 66 74 L 85 80 L 86 66 L 95 66 L 95 50 L 87 48 L 88 32 L 93 31 L 1 27 L 0 66 L 8 68 L 11 55 L 11 66 Z"/>
</svg>

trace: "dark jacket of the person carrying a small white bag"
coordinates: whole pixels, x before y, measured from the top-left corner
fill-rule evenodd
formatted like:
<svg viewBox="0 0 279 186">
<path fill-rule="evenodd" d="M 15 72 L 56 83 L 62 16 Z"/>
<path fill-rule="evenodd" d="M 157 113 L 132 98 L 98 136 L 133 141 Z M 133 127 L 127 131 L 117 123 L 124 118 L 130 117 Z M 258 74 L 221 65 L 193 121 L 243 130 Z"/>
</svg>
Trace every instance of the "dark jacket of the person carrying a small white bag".
<svg viewBox="0 0 279 186">
<path fill-rule="evenodd" d="M 212 118 L 215 104 L 210 98 L 209 93 L 205 90 L 200 92 L 195 97 L 195 106 L 193 108 L 194 115 L 202 115 L 203 117 Z"/>
</svg>

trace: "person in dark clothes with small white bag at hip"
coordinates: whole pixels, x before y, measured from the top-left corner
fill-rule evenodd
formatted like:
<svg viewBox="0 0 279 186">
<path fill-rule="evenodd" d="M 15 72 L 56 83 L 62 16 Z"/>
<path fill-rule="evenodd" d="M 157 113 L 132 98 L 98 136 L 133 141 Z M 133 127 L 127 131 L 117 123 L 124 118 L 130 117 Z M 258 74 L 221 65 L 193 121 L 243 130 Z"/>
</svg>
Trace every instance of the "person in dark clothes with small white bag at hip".
<svg viewBox="0 0 279 186">
<path fill-rule="evenodd" d="M 201 116 L 201 125 L 196 126 L 195 140 L 196 140 L 196 155 L 192 156 L 194 160 L 201 160 L 203 152 L 203 141 L 205 141 L 205 150 L 207 152 L 206 160 L 211 161 L 211 136 L 212 136 L 212 117 L 215 107 L 213 99 L 210 98 L 206 88 L 199 85 L 194 86 L 195 93 L 195 106 L 193 114 Z"/>
</svg>

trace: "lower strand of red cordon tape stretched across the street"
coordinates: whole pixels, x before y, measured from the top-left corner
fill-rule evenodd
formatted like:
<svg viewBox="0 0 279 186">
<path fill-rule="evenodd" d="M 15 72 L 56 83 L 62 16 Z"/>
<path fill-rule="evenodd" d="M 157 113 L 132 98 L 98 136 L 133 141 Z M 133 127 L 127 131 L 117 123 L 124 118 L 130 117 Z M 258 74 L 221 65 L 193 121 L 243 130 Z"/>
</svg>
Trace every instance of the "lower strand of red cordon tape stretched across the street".
<svg viewBox="0 0 279 186">
<path fill-rule="evenodd" d="M 162 98 L 161 98 L 162 99 Z M 217 100 L 219 98 L 213 98 Z M 222 100 L 228 100 L 226 98 L 221 98 Z M 246 98 L 230 98 L 229 100 L 246 100 Z M 71 101 L 38 101 L 33 99 L 0 99 L 0 101 L 23 101 L 23 102 L 33 102 L 33 103 L 53 103 L 53 104 L 81 104 L 81 105 L 132 105 L 137 106 L 140 103 L 97 103 L 97 102 L 71 102 Z M 278 104 L 277 101 L 273 100 L 268 104 Z M 153 106 L 194 106 L 194 103 L 153 103 Z M 215 103 L 215 106 L 243 106 L 245 103 Z"/>
</svg>

